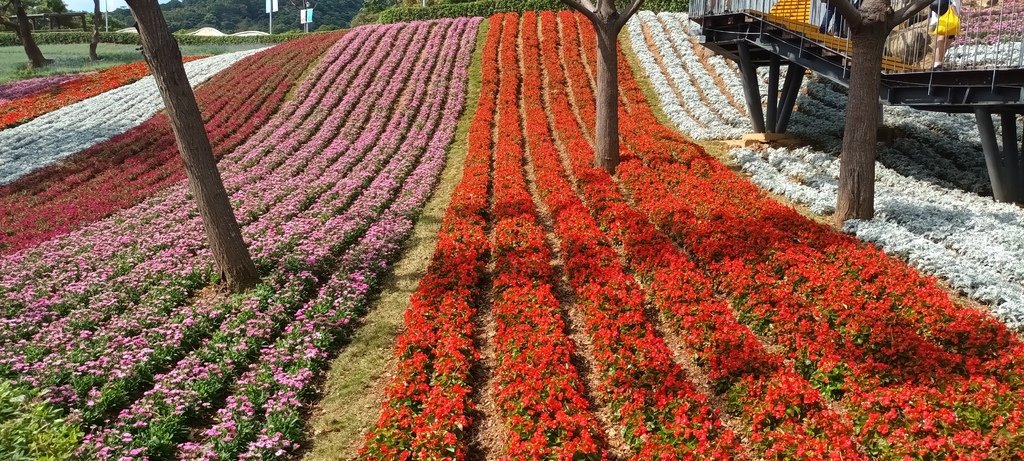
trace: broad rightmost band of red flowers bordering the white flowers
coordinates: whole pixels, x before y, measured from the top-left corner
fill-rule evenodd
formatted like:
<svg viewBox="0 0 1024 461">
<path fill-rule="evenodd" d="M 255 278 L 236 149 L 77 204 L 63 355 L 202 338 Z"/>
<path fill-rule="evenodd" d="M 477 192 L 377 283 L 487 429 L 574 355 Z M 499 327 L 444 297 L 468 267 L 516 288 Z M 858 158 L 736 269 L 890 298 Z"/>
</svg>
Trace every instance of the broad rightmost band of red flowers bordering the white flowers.
<svg viewBox="0 0 1024 461">
<path fill-rule="evenodd" d="M 632 76 L 623 80 L 627 98 L 643 100 Z M 641 103 L 631 109 L 622 128 L 639 159 L 627 159 L 620 177 L 638 207 L 693 255 L 710 276 L 705 286 L 724 293 L 740 321 L 846 407 L 867 455 L 1021 450 L 1024 348 L 1001 324 L 772 201 Z"/>
</svg>

